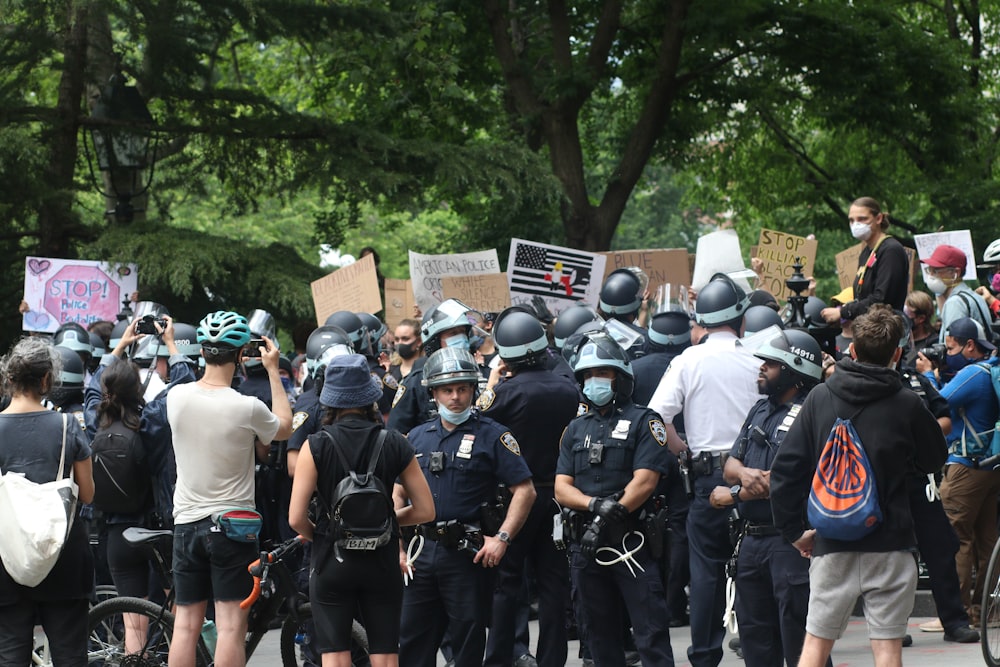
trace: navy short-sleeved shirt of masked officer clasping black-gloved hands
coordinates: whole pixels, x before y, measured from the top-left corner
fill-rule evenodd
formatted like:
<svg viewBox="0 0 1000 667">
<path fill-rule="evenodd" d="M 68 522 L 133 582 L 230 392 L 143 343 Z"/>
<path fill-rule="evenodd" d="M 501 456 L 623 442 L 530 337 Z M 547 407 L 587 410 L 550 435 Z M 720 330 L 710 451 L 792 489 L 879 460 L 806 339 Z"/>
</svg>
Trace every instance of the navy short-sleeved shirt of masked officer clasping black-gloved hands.
<svg viewBox="0 0 1000 667">
<path fill-rule="evenodd" d="M 666 474 L 666 444 L 663 421 L 649 408 L 629 401 L 605 415 L 591 409 L 566 427 L 556 474 L 572 477 L 573 486 L 588 496 L 610 496 L 624 489 L 636 470 Z"/>
</svg>

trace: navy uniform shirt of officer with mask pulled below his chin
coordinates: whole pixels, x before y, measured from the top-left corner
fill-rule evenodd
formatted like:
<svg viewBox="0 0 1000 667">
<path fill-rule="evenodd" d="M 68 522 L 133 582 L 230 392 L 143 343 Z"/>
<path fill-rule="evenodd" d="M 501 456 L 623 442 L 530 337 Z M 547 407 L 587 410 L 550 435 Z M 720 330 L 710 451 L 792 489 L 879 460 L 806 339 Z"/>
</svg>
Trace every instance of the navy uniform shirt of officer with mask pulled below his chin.
<svg viewBox="0 0 1000 667">
<path fill-rule="evenodd" d="M 511 487 L 531 477 L 513 434 L 475 411 L 452 431 L 434 419 L 408 438 L 434 497 L 436 521 L 478 521 L 479 506 L 493 497 L 498 481 Z M 441 452 L 439 472 L 431 472 L 435 452 Z"/>
</svg>

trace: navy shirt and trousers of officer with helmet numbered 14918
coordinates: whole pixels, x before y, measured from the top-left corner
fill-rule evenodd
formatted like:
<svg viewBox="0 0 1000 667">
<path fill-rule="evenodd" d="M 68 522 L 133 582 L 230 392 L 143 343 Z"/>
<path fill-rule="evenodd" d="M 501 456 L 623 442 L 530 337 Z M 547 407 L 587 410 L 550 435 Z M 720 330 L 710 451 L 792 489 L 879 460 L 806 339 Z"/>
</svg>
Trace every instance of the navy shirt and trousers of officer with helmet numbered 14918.
<svg viewBox="0 0 1000 667">
<path fill-rule="evenodd" d="M 748 468 L 770 470 L 807 391 L 788 403 L 758 401 L 729 455 Z M 736 564 L 736 618 L 748 665 L 798 664 L 809 609 L 809 560 L 774 527 L 767 498 L 739 503 L 744 535 Z"/>
</svg>

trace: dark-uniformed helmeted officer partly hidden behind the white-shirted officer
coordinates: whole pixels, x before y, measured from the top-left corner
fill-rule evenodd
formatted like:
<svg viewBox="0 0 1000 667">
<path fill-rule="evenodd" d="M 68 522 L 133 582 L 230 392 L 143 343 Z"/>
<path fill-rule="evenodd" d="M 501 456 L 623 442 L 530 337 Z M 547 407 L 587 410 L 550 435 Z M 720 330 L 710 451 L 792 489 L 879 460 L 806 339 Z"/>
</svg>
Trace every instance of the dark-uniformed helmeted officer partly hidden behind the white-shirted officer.
<svg viewBox="0 0 1000 667">
<path fill-rule="evenodd" d="M 691 318 L 683 310 L 668 310 L 657 313 L 649 323 L 646 354 L 632 362 L 635 373 L 635 391 L 632 399 L 638 405 L 648 405 L 653 392 L 660 384 L 663 374 L 674 357 L 691 347 Z M 674 417 L 674 428 L 684 432 L 684 416 Z M 671 459 L 670 470 L 660 480 L 657 493 L 667 497 L 669 510 L 667 541 L 670 548 L 666 554 L 668 561 L 661 561 L 667 567 L 664 574 L 667 582 L 667 609 L 670 610 L 670 627 L 688 624 L 688 597 L 685 588 L 691 579 L 688 559 L 687 512 L 690 501 L 681 480 L 680 469 Z"/>
</svg>

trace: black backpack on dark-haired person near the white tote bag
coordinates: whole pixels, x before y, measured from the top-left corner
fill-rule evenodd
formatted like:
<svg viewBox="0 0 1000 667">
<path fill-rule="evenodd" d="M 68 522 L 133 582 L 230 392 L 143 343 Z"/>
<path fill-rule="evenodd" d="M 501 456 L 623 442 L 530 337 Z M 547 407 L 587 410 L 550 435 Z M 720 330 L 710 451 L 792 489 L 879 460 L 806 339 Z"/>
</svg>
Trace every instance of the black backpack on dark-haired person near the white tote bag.
<svg viewBox="0 0 1000 667">
<path fill-rule="evenodd" d="M 102 512 L 140 514 L 150 508 L 153 478 L 142 437 L 120 421 L 94 436 L 94 502 Z"/>
</svg>

